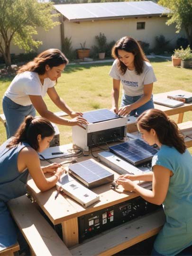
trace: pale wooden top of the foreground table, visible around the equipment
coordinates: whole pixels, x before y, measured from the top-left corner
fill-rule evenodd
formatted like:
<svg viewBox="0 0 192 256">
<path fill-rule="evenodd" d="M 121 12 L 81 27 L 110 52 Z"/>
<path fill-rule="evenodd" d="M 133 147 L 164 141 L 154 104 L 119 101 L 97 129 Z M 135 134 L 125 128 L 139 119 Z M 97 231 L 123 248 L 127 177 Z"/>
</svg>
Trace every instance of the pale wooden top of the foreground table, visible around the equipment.
<svg viewBox="0 0 192 256">
<path fill-rule="evenodd" d="M 65 145 L 66 148 L 72 148 L 72 144 Z M 95 149 L 93 149 L 94 152 Z M 102 150 L 101 150 L 102 151 Z M 96 155 L 99 151 L 93 153 Z M 82 156 L 77 158 L 77 162 L 91 159 L 91 153 L 88 156 Z M 61 163 L 64 159 L 54 158 L 52 159 L 55 163 Z M 41 165 L 48 165 L 47 161 L 41 161 Z M 114 174 L 115 179 L 119 177 L 115 171 L 106 167 Z M 150 184 L 150 183 L 149 183 Z M 121 186 L 115 191 L 110 188 L 110 183 L 103 184 L 101 186 L 91 189 L 93 192 L 100 196 L 100 201 L 92 204 L 91 206 L 84 208 L 78 202 L 74 201 L 72 198 L 59 194 L 55 200 L 56 188 L 52 188 L 46 192 L 40 192 L 34 183 L 33 179 L 29 177 L 27 181 L 27 189 L 32 194 L 34 199 L 37 201 L 38 205 L 45 211 L 46 215 L 51 219 L 54 224 L 59 224 L 64 220 L 72 219 L 75 217 L 82 216 L 84 214 L 94 212 L 96 210 L 101 210 L 108 206 L 117 204 L 122 201 L 127 201 L 129 199 L 137 197 L 134 192 L 124 191 Z"/>
</svg>

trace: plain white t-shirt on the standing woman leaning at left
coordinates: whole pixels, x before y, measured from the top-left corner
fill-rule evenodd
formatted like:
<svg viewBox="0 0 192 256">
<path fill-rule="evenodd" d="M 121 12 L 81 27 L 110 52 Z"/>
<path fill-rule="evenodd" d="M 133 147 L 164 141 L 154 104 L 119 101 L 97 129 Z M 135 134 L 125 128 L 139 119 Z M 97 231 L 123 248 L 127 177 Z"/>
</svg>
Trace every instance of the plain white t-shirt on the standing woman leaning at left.
<svg viewBox="0 0 192 256">
<path fill-rule="evenodd" d="M 38 73 L 25 71 L 16 75 L 5 92 L 5 96 L 19 105 L 28 106 L 32 104 L 28 95 L 44 97 L 47 89 L 54 85 L 55 82 L 49 78 L 45 78 L 42 85 Z"/>
</svg>

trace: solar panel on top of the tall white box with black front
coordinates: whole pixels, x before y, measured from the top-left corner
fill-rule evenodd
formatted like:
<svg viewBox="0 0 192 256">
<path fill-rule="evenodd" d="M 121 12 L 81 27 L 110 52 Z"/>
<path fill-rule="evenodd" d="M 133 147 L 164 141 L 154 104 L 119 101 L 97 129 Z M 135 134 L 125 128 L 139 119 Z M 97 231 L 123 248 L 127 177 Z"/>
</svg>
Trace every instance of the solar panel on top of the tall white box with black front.
<svg viewBox="0 0 192 256">
<path fill-rule="evenodd" d="M 89 123 L 99 123 L 111 119 L 121 118 L 108 109 L 84 112 L 82 117 L 85 118 Z"/>
</svg>

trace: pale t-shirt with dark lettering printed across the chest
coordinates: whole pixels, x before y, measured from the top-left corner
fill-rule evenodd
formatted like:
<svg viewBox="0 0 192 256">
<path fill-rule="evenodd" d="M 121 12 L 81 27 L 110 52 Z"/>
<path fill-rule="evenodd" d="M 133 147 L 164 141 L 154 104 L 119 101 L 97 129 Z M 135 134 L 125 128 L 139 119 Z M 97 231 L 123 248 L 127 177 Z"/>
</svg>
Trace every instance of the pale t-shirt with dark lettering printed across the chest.
<svg viewBox="0 0 192 256">
<path fill-rule="evenodd" d="M 139 96 L 143 94 L 143 88 L 145 84 L 149 84 L 156 81 L 153 67 L 150 63 L 144 61 L 143 73 L 138 75 L 135 70 L 128 70 L 122 75 L 117 67 L 117 61 L 113 62 L 110 70 L 110 76 L 113 79 L 120 80 L 123 85 L 123 93 L 128 96 Z"/>
</svg>

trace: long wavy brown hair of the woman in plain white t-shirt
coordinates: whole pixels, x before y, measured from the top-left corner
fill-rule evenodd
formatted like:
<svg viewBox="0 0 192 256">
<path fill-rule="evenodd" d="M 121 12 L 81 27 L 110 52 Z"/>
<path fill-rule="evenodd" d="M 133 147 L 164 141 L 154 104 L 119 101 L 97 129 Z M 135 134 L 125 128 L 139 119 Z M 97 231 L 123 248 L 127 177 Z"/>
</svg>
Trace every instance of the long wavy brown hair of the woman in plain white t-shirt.
<svg viewBox="0 0 192 256">
<path fill-rule="evenodd" d="M 21 66 L 18 73 L 33 71 L 40 75 L 46 73 L 46 65 L 50 68 L 57 67 L 61 64 L 68 64 L 69 61 L 65 55 L 58 49 L 48 49 L 40 53 L 33 61 Z"/>
</svg>

